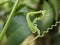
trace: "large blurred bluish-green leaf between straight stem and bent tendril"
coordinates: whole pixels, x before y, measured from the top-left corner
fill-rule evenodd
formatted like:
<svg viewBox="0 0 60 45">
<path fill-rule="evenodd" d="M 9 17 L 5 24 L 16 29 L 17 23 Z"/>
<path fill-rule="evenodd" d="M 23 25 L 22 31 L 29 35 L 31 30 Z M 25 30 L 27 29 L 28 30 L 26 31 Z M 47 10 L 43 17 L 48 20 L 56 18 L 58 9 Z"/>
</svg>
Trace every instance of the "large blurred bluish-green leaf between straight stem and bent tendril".
<svg viewBox="0 0 60 45">
<path fill-rule="evenodd" d="M 23 15 L 15 16 L 7 31 L 8 41 L 6 45 L 19 45 L 31 34 Z"/>
</svg>

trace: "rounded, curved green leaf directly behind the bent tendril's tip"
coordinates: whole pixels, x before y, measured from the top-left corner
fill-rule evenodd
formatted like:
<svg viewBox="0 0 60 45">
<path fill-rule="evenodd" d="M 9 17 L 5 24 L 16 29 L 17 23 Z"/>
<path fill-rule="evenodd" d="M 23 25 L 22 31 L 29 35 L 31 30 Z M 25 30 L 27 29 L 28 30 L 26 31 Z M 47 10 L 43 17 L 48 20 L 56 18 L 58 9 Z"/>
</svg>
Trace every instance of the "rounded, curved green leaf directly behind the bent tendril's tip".
<svg viewBox="0 0 60 45">
<path fill-rule="evenodd" d="M 41 30 L 41 33 L 43 34 L 44 31 L 46 31 L 47 33 L 47 29 L 50 28 L 51 25 L 53 24 L 55 15 L 51 5 L 46 1 L 42 5 L 42 10 L 46 10 L 44 14 L 46 16 L 44 17 L 43 20 L 40 21 L 38 20 L 37 25 L 38 28 Z"/>
</svg>

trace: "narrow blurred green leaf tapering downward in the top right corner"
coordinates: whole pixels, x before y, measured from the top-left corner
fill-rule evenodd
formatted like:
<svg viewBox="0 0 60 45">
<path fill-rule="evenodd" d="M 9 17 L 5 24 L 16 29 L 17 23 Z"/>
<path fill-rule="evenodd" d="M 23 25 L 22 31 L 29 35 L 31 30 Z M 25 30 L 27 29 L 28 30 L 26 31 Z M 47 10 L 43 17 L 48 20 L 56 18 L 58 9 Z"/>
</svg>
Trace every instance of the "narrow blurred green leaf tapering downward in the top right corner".
<svg viewBox="0 0 60 45">
<path fill-rule="evenodd" d="M 58 11 L 59 11 L 59 0 L 49 0 L 51 5 L 53 6 L 52 8 L 54 9 L 55 12 L 55 20 L 58 20 Z"/>
</svg>

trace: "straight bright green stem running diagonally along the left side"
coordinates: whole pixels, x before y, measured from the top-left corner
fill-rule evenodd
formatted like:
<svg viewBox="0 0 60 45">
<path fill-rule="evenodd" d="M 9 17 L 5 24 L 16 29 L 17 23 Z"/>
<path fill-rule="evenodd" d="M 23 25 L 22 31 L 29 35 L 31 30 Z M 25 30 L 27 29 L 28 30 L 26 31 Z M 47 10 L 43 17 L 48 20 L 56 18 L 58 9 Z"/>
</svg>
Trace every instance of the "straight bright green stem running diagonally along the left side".
<svg viewBox="0 0 60 45">
<path fill-rule="evenodd" d="M 16 11 L 16 8 L 17 8 L 17 6 L 18 6 L 18 3 L 19 3 L 19 0 L 16 0 L 15 4 L 14 4 L 14 6 L 13 6 L 13 9 L 12 9 L 12 11 L 11 11 L 11 13 L 10 13 L 10 16 L 8 17 L 8 20 L 7 20 L 6 24 L 5 24 L 2 32 L 0 33 L 0 41 L 3 39 L 4 34 L 6 33 L 7 28 L 9 27 L 9 25 L 10 25 L 10 23 L 11 23 L 11 20 L 12 20 L 14 14 L 15 14 L 15 11 Z"/>
</svg>

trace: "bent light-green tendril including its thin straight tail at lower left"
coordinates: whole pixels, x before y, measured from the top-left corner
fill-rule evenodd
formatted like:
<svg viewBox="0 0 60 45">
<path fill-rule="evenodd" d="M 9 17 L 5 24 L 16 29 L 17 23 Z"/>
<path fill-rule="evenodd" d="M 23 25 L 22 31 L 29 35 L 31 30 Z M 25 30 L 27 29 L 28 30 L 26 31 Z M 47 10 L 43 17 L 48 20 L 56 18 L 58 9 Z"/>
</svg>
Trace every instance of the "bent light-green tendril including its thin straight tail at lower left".
<svg viewBox="0 0 60 45">
<path fill-rule="evenodd" d="M 30 16 L 34 16 L 34 14 L 39 14 L 39 13 L 42 13 L 42 16 L 40 17 L 37 17 L 33 20 L 33 22 L 30 20 Z M 29 26 L 29 28 L 31 29 L 32 33 L 38 33 L 38 35 L 31 41 L 33 42 L 34 40 L 36 40 L 38 37 L 40 37 L 40 30 L 38 29 L 37 27 L 37 24 L 35 24 L 37 22 L 37 20 L 43 20 L 44 17 L 45 17 L 45 10 L 43 11 L 37 11 L 37 12 L 29 12 L 27 15 L 26 15 L 26 20 L 27 20 L 27 24 Z M 31 43 L 29 42 L 29 44 Z"/>
</svg>

